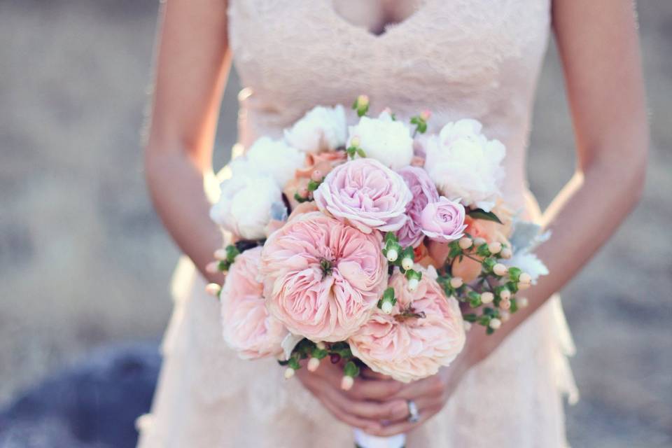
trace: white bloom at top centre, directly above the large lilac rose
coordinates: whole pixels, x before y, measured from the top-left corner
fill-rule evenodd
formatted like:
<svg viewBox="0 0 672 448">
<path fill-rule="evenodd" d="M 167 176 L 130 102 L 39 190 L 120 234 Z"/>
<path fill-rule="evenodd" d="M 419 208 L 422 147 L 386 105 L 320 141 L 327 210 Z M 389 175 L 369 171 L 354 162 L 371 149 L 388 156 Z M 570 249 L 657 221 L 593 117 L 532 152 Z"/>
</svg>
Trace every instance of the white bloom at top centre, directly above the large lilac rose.
<svg viewBox="0 0 672 448">
<path fill-rule="evenodd" d="M 383 112 L 379 118 L 362 117 L 356 126 L 350 127 L 350 140 L 358 137 L 359 146 L 366 157 L 378 160 L 391 169 L 410 165 L 413 158 L 413 139 L 409 128 Z"/>
</svg>

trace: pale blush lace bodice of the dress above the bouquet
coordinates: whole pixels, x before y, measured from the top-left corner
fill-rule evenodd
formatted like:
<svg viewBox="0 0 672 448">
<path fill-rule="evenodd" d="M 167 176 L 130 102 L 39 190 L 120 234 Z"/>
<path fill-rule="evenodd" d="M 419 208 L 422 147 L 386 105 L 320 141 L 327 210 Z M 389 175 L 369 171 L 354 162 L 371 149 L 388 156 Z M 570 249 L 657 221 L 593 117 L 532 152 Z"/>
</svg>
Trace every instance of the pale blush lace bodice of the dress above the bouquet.
<svg viewBox="0 0 672 448">
<path fill-rule="evenodd" d="M 277 136 L 316 104 L 371 97 L 372 113 L 476 118 L 507 146 L 505 195 L 524 188 L 524 151 L 549 0 L 426 0 L 379 36 L 332 0 L 232 0 L 230 43 L 246 89 L 241 142 Z"/>
</svg>

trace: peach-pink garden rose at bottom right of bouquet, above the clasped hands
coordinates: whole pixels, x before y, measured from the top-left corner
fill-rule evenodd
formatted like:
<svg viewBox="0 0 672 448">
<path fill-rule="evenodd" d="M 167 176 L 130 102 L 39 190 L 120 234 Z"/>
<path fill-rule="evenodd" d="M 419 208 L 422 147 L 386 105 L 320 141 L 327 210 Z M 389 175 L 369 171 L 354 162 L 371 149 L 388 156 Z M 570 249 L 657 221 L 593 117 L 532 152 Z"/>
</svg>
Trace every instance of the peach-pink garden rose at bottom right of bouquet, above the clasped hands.
<svg viewBox="0 0 672 448">
<path fill-rule="evenodd" d="M 457 300 L 444 295 L 433 267 L 415 269 L 422 272 L 418 288 L 409 291 L 405 276 L 395 272 L 390 279 L 397 297 L 392 314 L 377 310 L 348 340 L 353 355 L 371 370 L 405 383 L 449 365 L 465 341 Z"/>
</svg>

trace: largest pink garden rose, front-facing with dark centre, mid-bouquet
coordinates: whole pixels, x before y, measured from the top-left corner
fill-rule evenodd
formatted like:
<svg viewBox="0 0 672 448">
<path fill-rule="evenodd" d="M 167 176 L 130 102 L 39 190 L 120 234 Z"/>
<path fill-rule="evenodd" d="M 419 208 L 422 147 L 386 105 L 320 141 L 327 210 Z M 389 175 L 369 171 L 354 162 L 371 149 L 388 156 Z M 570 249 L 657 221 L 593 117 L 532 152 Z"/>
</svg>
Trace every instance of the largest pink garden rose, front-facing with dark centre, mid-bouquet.
<svg viewBox="0 0 672 448">
<path fill-rule="evenodd" d="M 269 312 L 312 341 L 347 339 L 370 317 L 387 283 L 379 232 L 320 212 L 300 214 L 267 239 L 261 257 Z"/>
</svg>

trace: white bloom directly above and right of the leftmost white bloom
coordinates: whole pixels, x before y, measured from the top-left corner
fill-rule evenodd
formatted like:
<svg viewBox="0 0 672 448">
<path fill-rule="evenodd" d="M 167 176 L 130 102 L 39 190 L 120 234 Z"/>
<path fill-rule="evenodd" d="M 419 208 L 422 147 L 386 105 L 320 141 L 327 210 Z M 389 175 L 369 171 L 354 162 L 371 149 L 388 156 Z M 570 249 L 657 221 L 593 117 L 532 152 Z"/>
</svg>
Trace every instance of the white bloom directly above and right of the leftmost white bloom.
<svg viewBox="0 0 672 448">
<path fill-rule="evenodd" d="M 244 161 L 251 165 L 251 170 L 271 176 L 280 188 L 284 188 L 294 178 L 297 168 L 303 167 L 305 155 L 284 141 L 261 137 L 248 149 Z M 238 167 L 232 164 L 234 176 Z"/>
</svg>

